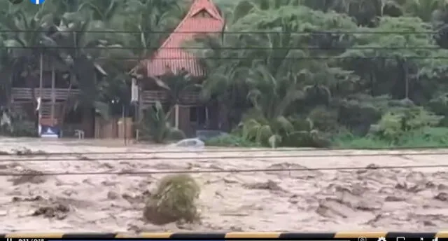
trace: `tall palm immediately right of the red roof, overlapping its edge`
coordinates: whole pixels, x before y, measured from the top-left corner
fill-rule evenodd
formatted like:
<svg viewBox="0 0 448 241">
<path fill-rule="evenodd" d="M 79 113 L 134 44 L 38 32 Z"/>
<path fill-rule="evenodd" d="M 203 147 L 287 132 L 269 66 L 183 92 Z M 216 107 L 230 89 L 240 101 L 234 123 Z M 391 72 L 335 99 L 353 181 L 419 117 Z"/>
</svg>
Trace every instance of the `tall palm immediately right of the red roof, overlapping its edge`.
<svg viewBox="0 0 448 241">
<path fill-rule="evenodd" d="M 298 1 L 239 1 L 221 9 L 221 14 L 225 15 L 225 27 L 220 36 L 198 35 L 194 41 L 186 43 L 188 50 L 197 56 L 207 70 L 207 79 L 202 86 L 202 99 L 218 102 L 220 112 L 223 113 L 220 118 L 221 128 L 230 130 L 237 125 L 244 109 L 250 104 L 246 99 L 248 88 L 244 78 L 247 68 L 251 66 L 251 56 L 258 58 L 251 48 L 262 41 L 258 34 L 245 34 L 244 31 L 254 28 L 246 26 L 244 21 L 240 25 L 239 20 L 249 13 L 255 14 L 297 3 Z"/>
</svg>

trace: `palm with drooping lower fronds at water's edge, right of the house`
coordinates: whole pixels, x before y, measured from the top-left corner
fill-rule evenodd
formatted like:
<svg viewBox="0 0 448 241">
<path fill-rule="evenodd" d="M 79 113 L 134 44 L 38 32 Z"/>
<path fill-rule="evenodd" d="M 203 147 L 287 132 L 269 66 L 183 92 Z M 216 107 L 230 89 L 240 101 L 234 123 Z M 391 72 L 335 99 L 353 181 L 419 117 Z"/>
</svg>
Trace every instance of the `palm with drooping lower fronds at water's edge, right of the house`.
<svg viewBox="0 0 448 241">
<path fill-rule="evenodd" d="M 251 69 L 248 99 L 253 109 L 243 117 L 241 127 L 246 139 L 274 147 L 294 131 L 285 115 L 291 104 L 304 99 L 304 91 L 300 76 L 277 79 L 267 69 L 261 64 Z"/>
</svg>

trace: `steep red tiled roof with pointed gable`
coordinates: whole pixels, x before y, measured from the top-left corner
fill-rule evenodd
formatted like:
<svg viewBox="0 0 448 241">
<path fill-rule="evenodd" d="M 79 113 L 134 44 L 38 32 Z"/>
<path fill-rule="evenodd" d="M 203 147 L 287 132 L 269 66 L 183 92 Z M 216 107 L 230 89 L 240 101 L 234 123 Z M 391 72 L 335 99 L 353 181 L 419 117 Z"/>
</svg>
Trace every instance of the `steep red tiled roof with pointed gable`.
<svg viewBox="0 0 448 241">
<path fill-rule="evenodd" d="M 202 12 L 209 15 L 201 15 Z M 194 0 L 186 17 L 147 62 L 148 75 L 161 76 L 169 70 L 185 69 L 193 76 L 203 76 L 204 69 L 195 56 L 181 46 L 198 33 L 221 32 L 223 27 L 224 20 L 211 0 Z"/>
</svg>

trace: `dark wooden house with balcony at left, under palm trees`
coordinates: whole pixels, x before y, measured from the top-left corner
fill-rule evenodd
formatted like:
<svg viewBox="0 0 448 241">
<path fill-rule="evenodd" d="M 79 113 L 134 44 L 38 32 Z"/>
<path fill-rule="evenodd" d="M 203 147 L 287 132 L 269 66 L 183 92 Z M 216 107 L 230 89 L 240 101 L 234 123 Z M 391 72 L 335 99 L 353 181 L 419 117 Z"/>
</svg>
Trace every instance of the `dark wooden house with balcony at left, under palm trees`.
<svg viewBox="0 0 448 241">
<path fill-rule="evenodd" d="M 68 103 L 76 101 L 80 95 L 69 69 L 45 55 L 41 58 L 38 69 L 41 71 L 28 74 L 17 71 L 14 74 L 10 95 L 11 111 L 25 118 L 37 118 L 36 105 L 37 99 L 40 99 L 40 116 L 37 118 L 40 125 L 62 130 L 64 137 L 73 137 L 75 130 L 85 132 L 85 137 L 93 137 L 94 110 L 88 114 L 80 109 L 75 111 Z M 106 75 L 99 66 L 95 66 L 94 70 L 97 76 L 92 78 Z"/>
</svg>

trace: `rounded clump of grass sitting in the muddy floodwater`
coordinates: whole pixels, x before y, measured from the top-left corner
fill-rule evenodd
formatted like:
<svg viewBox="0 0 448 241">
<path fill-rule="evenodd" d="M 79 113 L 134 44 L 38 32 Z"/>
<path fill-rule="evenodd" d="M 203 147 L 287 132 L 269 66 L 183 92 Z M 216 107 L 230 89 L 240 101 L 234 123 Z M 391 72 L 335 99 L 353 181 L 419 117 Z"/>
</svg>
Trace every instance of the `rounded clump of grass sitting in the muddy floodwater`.
<svg viewBox="0 0 448 241">
<path fill-rule="evenodd" d="M 156 225 L 175 221 L 193 223 L 200 219 L 199 195 L 200 186 L 189 174 L 164 177 L 146 202 L 144 219 Z"/>
</svg>

